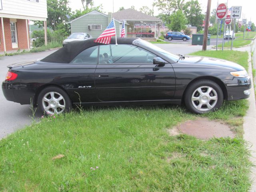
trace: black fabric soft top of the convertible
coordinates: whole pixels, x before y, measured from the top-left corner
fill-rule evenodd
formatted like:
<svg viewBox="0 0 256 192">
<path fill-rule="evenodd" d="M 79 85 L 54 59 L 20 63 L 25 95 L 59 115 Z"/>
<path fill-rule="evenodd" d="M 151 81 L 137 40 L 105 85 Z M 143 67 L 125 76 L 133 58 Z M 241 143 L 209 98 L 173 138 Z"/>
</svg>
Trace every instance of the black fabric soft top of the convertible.
<svg viewBox="0 0 256 192">
<path fill-rule="evenodd" d="M 117 38 L 118 44 L 132 44 L 138 38 Z M 95 39 L 85 41 L 72 41 L 66 44 L 63 48 L 50 54 L 46 58 L 40 60 L 48 63 L 70 63 L 80 52 L 101 43 L 95 43 Z M 111 38 L 110 44 L 116 44 L 116 38 Z"/>
</svg>

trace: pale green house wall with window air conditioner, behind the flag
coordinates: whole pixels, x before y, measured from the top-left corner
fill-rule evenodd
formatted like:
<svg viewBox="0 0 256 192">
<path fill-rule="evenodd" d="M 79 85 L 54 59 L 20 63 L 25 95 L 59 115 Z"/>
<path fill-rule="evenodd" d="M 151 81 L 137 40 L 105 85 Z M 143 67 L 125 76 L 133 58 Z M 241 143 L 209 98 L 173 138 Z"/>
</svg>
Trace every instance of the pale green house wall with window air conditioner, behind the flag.
<svg viewBox="0 0 256 192">
<path fill-rule="evenodd" d="M 108 24 L 111 22 L 112 13 L 108 15 L 92 11 L 90 13 L 84 14 L 74 20 L 71 23 L 71 33 L 75 32 L 85 32 L 89 33 L 93 38 L 97 38 L 102 34 L 102 32 L 107 28 Z M 116 36 L 120 37 L 120 32 L 122 29 L 122 20 L 114 20 L 116 25 Z M 127 37 L 127 26 L 129 24 L 125 23 L 125 33 Z"/>
</svg>

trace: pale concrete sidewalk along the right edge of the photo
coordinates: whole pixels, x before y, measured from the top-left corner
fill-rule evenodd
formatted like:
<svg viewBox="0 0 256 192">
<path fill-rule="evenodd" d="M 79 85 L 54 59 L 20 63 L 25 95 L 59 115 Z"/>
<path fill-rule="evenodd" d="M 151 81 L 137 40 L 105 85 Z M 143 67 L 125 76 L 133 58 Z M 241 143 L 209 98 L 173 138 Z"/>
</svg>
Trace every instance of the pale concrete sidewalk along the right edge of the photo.
<svg viewBox="0 0 256 192">
<path fill-rule="evenodd" d="M 248 74 L 250 75 L 252 88 L 250 89 L 250 98 L 248 98 L 250 102 L 249 109 L 247 111 L 246 116 L 244 117 L 244 139 L 248 142 L 248 148 L 251 151 L 250 160 L 254 164 L 256 164 L 256 105 L 255 105 L 255 94 L 254 94 L 254 86 L 253 86 L 253 78 L 252 78 L 252 65 L 251 65 L 251 52 L 253 52 L 256 48 L 256 40 L 252 46 L 237 48 L 235 50 L 238 51 L 248 51 L 249 54 L 249 69 Z M 256 53 L 254 53 L 253 59 L 254 65 L 256 65 Z M 256 168 L 252 167 L 252 173 L 250 178 L 252 179 L 252 186 L 250 192 L 256 192 Z"/>
</svg>

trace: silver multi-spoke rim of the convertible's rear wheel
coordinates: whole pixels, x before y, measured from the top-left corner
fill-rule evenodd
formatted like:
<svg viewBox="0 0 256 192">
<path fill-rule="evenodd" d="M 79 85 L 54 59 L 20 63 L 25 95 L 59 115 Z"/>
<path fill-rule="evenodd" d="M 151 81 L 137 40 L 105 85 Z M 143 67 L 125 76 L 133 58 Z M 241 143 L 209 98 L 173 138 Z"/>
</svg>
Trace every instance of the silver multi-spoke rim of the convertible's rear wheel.
<svg viewBox="0 0 256 192">
<path fill-rule="evenodd" d="M 57 92 L 48 92 L 42 98 L 43 108 L 48 114 L 60 114 L 65 110 L 64 97 Z"/>
</svg>

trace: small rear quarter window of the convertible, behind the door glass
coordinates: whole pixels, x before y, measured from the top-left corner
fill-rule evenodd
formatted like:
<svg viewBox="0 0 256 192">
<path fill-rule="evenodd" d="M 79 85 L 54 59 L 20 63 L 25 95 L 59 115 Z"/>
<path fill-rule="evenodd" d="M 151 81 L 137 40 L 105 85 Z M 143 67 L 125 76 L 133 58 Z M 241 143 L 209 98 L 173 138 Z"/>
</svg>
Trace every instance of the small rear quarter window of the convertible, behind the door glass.
<svg viewBox="0 0 256 192">
<path fill-rule="evenodd" d="M 70 63 L 97 64 L 98 46 L 90 47 L 83 50 Z"/>
</svg>

